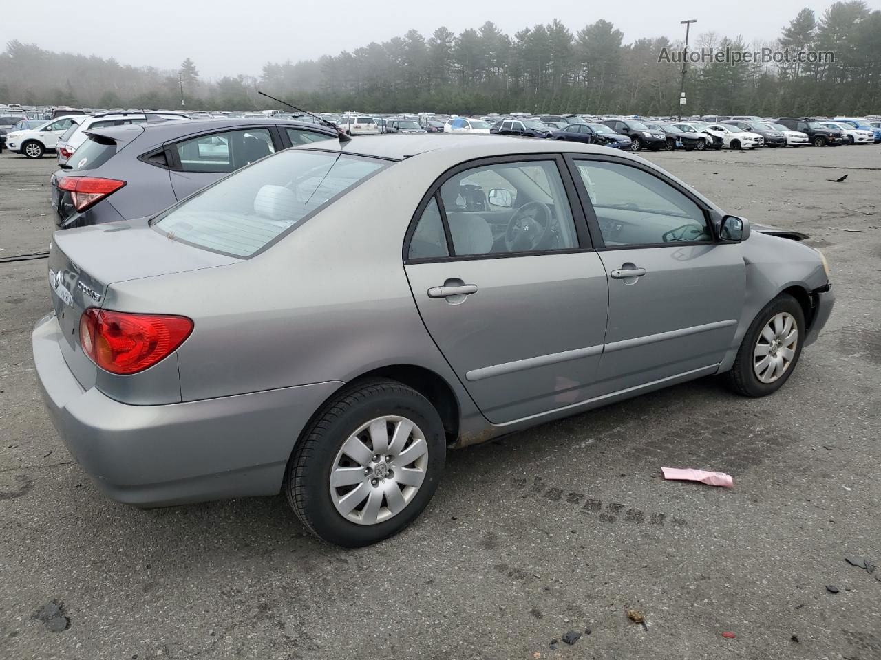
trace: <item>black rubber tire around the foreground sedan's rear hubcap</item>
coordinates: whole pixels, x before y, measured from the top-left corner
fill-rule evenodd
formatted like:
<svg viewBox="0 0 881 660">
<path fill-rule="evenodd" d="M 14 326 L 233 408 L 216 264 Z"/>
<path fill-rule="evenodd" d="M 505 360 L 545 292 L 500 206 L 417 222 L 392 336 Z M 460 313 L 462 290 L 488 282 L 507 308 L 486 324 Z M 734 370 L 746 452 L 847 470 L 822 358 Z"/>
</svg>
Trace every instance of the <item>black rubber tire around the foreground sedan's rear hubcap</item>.
<svg viewBox="0 0 881 660">
<path fill-rule="evenodd" d="M 404 416 L 422 430 L 428 448 L 426 476 L 396 515 L 381 523 L 353 523 L 337 511 L 330 497 L 330 471 L 349 436 L 362 424 L 386 414 Z M 441 478 L 446 452 L 441 417 L 422 394 L 384 378 L 355 381 L 309 422 L 288 462 L 285 495 L 300 521 L 316 536 L 338 546 L 369 546 L 401 532 L 422 513 Z"/>
</svg>

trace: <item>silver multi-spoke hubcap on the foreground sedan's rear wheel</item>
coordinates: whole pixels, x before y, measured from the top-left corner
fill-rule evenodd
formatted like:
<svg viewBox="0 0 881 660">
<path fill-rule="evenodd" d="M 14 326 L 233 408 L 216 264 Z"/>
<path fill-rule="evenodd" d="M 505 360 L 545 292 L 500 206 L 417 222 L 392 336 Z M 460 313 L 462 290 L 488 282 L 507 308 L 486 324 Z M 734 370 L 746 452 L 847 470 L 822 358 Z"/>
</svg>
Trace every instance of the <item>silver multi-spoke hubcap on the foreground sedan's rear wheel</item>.
<svg viewBox="0 0 881 660">
<path fill-rule="evenodd" d="M 382 523 L 412 502 L 427 468 L 422 430 L 406 417 L 377 417 L 362 424 L 337 452 L 330 469 L 330 498 L 352 523 Z"/>
</svg>

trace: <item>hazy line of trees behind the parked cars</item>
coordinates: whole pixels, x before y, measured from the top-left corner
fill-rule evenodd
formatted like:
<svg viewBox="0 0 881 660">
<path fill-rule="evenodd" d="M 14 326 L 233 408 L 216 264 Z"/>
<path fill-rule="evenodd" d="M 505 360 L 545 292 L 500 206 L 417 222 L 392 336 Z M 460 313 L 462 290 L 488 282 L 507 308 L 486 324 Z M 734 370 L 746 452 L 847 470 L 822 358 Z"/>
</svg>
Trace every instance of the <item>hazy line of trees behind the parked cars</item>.
<svg viewBox="0 0 881 660">
<path fill-rule="evenodd" d="M 681 51 L 667 37 L 624 43 L 610 22 L 573 32 L 558 19 L 509 35 L 492 22 L 455 34 L 439 27 L 300 62 L 268 62 L 259 77 L 206 81 L 189 58 L 178 71 L 54 53 L 13 40 L 0 55 L 0 102 L 25 105 L 248 110 L 275 107 L 263 89 L 322 111 L 484 114 L 678 114 Z M 834 54 L 822 62 L 689 63 L 685 114 L 881 113 L 881 11 L 836 2 L 799 11 L 777 40 L 701 33 L 692 50 L 785 49 Z"/>
</svg>

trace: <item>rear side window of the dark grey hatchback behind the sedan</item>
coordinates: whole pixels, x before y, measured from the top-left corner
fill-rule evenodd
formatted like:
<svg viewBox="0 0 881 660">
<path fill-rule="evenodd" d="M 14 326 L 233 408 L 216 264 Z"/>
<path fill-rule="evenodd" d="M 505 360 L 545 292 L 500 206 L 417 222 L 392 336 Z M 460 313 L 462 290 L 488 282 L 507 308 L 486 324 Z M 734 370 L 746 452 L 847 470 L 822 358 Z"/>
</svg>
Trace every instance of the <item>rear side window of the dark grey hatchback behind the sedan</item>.
<svg viewBox="0 0 881 660">
<path fill-rule="evenodd" d="M 183 172 L 234 172 L 275 152 L 265 128 L 194 137 L 174 144 Z"/>
</svg>

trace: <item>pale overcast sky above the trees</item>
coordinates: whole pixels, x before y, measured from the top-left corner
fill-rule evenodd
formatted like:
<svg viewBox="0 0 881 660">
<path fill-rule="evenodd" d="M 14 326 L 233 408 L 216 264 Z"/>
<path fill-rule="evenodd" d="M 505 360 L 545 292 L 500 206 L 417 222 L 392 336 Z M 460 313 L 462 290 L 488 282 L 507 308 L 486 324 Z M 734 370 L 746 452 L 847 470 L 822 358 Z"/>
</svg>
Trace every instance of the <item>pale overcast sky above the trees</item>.
<svg viewBox="0 0 881 660">
<path fill-rule="evenodd" d="M 438 26 L 460 33 L 487 20 L 513 35 L 525 26 L 550 23 L 553 18 L 562 20 L 575 33 L 604 18 L 618 27 L 624 33 L 624 42 L 629 43 L 640 37 L 662 35 L 681 39 L 685 26 L 679 21 L 697 18 L 697 25 L 692 26 L 697 33 L 714 31 L 732 37 L 742 33 L 747 43 L 773 40 L 805 6 L 805 0 L 741 0 L 736 6 L 724 7 L 706 0 L 671 4 L 656 0 L 507 0 L 487 4 L 435 0 L 151 0 L 123 3 L 118 11 L 70 5 L 71 20 L 65 20 L 63 13 L 48 12 L 50 4 L 55 3 L 26 4 L 26 14 L 33 11 L 34 17 L 42 17 L 39 29 L 31 29 L 33 21 L 6 21 L 5 39 L 37 43 L 49 50 L 113 56 L 122 63 L 160 69 L 176 70 L 189 56 L 203 77 L 218 78 L 239 73 L 259 75 L 265 62 L 336 55 L 370 41 L 402 36 L 411 28 L 427 39 Z M 830 4 L 832 0 L 809 6 L 819 18 Z M 868 4 L 877 9 L 879 0 Z M 47 12 L 50 16 L 43 16 Z"/>
</svg>

